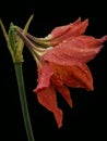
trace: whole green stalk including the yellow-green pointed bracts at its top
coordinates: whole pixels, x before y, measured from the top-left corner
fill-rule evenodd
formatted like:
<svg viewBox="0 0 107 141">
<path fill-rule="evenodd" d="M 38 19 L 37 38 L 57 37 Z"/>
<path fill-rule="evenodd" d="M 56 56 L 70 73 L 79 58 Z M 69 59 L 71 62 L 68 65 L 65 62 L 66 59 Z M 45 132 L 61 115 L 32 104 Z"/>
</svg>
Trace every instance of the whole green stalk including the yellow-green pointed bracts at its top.
<svg viewBox="0 0 107 141">
<path fill-rule="evenodd" d="M 27 33 L 32 18 L 33 18 L 33 15 L 28 18 L 27 23 L 25 24 L 24 29 L 22 30 L 22 33 L 24 35 Z M 14 25 L 12 23 L 10 24 L 9 33 L 5 31 L 5 28 L 4 28 L 1 20 L 0 20 L 0 26 L 1 26 L 1 29 L 3 33 L 3 36 L 5 38 L 8 49 L 12 56 L 12 62 L 13 62 L 14 69 L 15 69 L 22 114 L 23 114 L 24 126 L 25 126 L 27 139 L 28 139 L 28 141 L 35 141 L 33 130 L 32 130 L 29 113 L 28 113 L 27 99 L 26 99 L 26 94 L 25 94 L 24 78 L 23 78 L 23 70 L 22 70 L 24 42 L 16 35 L 16 33 L 14 30 L 15 28 L 13 28 Z"/>
</svg>

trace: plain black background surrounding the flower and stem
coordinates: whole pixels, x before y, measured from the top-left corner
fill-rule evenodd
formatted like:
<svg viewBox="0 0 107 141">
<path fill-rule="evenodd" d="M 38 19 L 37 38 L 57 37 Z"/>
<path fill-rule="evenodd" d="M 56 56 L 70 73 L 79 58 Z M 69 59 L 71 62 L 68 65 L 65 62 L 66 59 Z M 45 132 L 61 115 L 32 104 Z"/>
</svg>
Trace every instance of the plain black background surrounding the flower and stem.
<svg viewBox="0 0 107 141">
<path fill-rule="evenodd" d="M 88 18 L 87 35 L 100 38 L 107 35 L 107 8 L 103 1 L 2 1 L 0 2 L 0 17 L 9 29 L 11 22 L 24 27 L 28 17 L 34 14 L 28 31 L 36 37 L 47 36 L 52 28 L 66 25 L 82 17 Z M 73 108 L 58 94 L 58 103 L 63 110 L 63 126 L 58 129 L 50 112 L 43 107 L 33 93 L 36 87 L 36 64 L 24 48 L 23 73 L 26 97 L 35 141 L 37 140 L 104 140 L 106 137 L 106 60 L 107 42 L 100 53 L 91 62 L 94 87 L 93 92 L 71 89 Z M 0 117 L 1 141 L 27 141 L 20 105 L 14 66 L 0 29 Z"/>
</svg>

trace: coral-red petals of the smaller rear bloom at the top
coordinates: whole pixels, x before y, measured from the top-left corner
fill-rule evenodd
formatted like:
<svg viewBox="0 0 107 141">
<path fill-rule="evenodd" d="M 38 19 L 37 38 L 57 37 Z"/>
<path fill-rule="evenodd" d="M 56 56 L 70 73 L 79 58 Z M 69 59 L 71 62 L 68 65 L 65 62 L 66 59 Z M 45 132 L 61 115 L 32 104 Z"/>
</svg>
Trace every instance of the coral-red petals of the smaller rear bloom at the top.
<svg viewBox="0 0 107 141">
<path fill-rule="evenodd" d="M 52 37 L 60 35 L 57 38 L 51 39 L 51 46 L 58 44 L 59 42 L 62 42 L 63 40 L 70 38 L 70 37 L 76 37 L 86 30 L 86 27 L 88 25 L 88 20 L 85 20 L 84 22 L 80 22 L 80 18 L 74 24 L 69 24 L 67 26 L 57 27 L 55 31 L 52 31 Z M 55 34 L 56 33 L 56 34 Z M 62 34 L 63 33 L 63 34 Z"/>
</svg>

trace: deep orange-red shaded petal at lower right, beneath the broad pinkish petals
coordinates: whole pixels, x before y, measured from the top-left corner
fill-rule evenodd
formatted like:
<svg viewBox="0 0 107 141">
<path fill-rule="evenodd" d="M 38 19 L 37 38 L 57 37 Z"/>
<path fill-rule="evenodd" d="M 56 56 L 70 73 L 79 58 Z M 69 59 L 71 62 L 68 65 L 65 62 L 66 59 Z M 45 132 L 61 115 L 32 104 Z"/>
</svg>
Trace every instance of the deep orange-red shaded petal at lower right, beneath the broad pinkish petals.
<svg viewBox="0 0 107 141">
<path fill-rule="evenodd" d="M 66 67 L 67 74 L 63 76 L 63 82 L 69 87 L 85 88 L 93 90 L 93 77 L 87 65 L 79 64 L 72 67 Z"/>
</svg>

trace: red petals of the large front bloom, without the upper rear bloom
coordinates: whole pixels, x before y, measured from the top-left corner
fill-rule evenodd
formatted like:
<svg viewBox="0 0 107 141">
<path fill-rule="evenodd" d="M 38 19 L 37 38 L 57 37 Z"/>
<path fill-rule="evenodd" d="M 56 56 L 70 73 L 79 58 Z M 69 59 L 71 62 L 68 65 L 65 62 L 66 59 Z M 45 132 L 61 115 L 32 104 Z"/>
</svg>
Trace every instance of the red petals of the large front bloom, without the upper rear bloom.
<svg viewBox="0 0 107 141">
<path fill-rule="evenodd" d="M 62 112 L 57 105 L 56 89 L 72 107 L 72 99 L 67 88 L 93 90 L 92 74 L 85 64 L 100 51 L 105 37 L 95 39 L 88 36 L 73 37 L 50 48 L 43 55 L 44 65 L 38 72 L 37 99 L 51 111 L 58 127 L 62 125 Z"/>
</svg>

